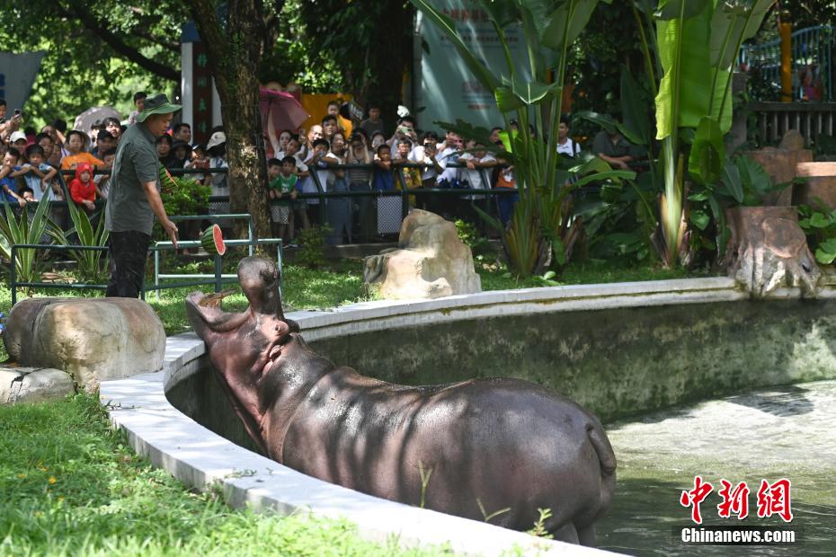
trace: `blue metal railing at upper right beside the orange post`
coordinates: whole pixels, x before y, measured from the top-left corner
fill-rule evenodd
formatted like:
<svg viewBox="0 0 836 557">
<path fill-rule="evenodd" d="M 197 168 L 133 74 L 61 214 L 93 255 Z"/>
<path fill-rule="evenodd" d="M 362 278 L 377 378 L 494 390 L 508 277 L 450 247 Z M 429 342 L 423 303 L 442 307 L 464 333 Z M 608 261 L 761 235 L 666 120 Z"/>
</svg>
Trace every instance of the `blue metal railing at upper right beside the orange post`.
<svg viewBox="0 0 836 557">
<path fill-rule="evenodd" d="M 833 101 L 833 27 L 817 25 L 792 33 L 792 70 L 794 101 Z M 781 89 L 781 41 L 746 44 L 740 51 L 741 65 L 756 67 L 777 91 Z M 807 76 L 821 82 L 823 96 L 813 99 L 802 80 Z M 813 84 L 809 86 L 814 86 Z"/>
</svg>

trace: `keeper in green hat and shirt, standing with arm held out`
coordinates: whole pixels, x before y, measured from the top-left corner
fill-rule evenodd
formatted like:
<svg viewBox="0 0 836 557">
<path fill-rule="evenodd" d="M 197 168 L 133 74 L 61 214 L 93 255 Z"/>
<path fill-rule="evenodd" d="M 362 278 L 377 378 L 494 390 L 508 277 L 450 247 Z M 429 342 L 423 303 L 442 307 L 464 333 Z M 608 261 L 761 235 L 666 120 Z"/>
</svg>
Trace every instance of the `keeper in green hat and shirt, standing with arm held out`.
<svg viewBox="0 0 836 557">
<path fill-rule="evenodd" d="M 177 226 L 165 214 L 160 198 L 156 137 L 165 133 L 179 110 L 180 105 L 168 102 L 165 94 L 146 99 L 137 123 L 128 128 L 116 149 L 104 219 L 110 231 L 111 257 L 106 296 L 139 296 L 155 215 L 177 249 Z"/>
</svg>

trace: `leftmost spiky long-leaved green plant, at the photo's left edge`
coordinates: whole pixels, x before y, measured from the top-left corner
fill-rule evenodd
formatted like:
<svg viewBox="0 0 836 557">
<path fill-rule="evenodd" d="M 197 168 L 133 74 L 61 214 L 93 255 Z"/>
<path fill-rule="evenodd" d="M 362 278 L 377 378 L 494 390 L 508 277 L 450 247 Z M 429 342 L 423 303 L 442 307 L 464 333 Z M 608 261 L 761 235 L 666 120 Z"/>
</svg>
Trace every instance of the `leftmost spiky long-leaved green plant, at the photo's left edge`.
<svg viewBox="0 0 836 557">
<path fill-rule="evenodd" d="M 5 219 L 0 218 L 0 253 L 7 260 L 12 259 L 13 244 L 44 243 L 44 235 L 57 230 L 49 221 L 49 203 L 38 203 L 38 208 L 32 215 L 27 208 L 22 208 L 19 217 L 14 215 L 14 210 L 9 206 L 5 196 L 3 206 Z M 14 255 L 17 279 L 21 282 L 37 282 L 43 269 L 43 259 L 39 256 L 39 250 L 16 250 Z"/>
</svg>

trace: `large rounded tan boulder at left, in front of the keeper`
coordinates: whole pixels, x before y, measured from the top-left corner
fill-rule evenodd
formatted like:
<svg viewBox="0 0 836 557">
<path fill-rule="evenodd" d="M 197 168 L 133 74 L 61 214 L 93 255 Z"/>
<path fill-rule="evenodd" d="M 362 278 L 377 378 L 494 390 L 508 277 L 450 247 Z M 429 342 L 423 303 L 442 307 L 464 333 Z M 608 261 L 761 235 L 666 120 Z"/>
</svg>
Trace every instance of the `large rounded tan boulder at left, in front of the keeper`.
<svg viewBox="0 0 836 557">
<path fill-rule="evenodd" d="M 88 392 L 100 381 L 163 366 L 163 323 L 133 298 L 33 298 L 12 308 L 3 333 L 21 366 L 67 371 Z"/>
</svg>

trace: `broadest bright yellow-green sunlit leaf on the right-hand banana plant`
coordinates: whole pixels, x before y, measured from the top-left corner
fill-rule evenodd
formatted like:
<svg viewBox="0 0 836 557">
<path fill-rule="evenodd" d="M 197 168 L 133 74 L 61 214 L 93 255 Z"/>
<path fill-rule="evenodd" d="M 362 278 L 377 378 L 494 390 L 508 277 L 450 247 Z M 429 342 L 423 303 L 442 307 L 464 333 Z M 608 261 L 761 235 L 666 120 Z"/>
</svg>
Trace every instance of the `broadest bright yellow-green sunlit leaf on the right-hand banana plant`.
<svg viewBox="0 0 836 557">
<path fill-rule="evenodd" d="M 656 138 L 675 135 L 677 128 L 696 128 L 709 113 L 710 6 L 687 19 L 656 22 L 664 76 L 656 95 Z"/>
</svg>

